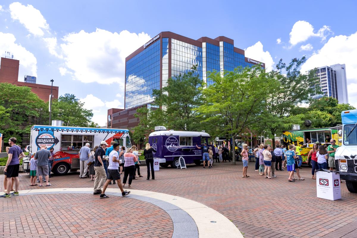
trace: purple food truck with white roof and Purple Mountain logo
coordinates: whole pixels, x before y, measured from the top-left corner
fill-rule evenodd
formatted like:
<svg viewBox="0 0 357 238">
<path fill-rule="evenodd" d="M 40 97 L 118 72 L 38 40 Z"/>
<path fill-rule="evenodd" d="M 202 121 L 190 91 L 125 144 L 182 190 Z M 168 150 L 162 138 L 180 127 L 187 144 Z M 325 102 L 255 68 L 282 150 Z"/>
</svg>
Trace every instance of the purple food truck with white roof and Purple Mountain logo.
<svg viewBox="0 0 357 238">
<path fill-rule="evenodd" d="M 149 143 L 156 150 L 154 159 L 159 159 L 161 167 L 171 165 L 173 168 L 180 166 L 178 158 L 185 159 L 186 164 L 201 164 L 202 150 L 197 149 L 204 143 L 214 146 L 208 133 L 199 131 L 166 130 L 164 126 L 155 126 L 155 131 L 149 135 Z"/>
</svg>

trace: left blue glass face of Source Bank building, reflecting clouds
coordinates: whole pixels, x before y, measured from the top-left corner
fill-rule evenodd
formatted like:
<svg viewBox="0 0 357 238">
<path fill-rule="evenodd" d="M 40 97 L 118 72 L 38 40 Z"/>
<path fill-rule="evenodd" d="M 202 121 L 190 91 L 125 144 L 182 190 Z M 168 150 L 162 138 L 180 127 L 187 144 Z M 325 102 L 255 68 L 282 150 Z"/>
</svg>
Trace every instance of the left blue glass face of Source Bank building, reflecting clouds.
<svg viewBox="0 0 357 238">
<path fill-rule="evenodd" d="M 126 62 L 125 108 L 153 101 L 152 89 L 160 89 L 160 40 Z"/>
</svg>

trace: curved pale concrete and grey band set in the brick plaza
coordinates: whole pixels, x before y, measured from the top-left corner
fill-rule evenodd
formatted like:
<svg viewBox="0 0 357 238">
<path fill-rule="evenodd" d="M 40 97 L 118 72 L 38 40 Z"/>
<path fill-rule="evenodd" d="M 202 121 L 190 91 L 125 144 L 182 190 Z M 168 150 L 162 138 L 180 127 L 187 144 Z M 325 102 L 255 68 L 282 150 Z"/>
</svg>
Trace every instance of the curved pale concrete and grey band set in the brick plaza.
<svg viewBox="0 0 357 238">
<path fill-rule="evenodd" d="M 129 190 L 129 189 L 128 189 Z M 129 190 L 129 198 L 152 203 L 166 211 L 174 224 L 173 238 L 243 238 L 238 228 L 216 210 L 183 197 L 166 193 Z M 93 193 L 93 188 L 47 188 L 19 191 L 21 196 L 56 193 Z M 121 196 L 119 188 L 107 188 L 107 195 Z"/>
</svg>

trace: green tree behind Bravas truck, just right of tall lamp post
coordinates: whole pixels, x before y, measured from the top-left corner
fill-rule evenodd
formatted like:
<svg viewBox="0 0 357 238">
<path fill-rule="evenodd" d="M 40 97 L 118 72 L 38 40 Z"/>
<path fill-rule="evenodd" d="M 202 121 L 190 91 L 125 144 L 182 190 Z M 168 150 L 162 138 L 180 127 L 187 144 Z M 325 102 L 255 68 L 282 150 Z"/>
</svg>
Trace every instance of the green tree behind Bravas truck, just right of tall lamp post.
<svg viewBox="0 0 357 238">
<path fill-rule="evenodd" d="M 52 119 L 64 121 L 64 126 L 97 127 L 92 117 L 92 110 L 85 109 L 74 94 L 66 93 L 52 101 Z"/>
</svg>

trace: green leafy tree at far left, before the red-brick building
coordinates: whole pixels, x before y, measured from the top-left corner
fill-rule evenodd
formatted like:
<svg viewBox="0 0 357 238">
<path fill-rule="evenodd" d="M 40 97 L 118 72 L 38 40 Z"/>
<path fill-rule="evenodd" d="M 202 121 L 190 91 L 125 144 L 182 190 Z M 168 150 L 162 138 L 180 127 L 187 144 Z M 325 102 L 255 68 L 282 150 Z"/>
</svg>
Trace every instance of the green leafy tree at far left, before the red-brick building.
<svg viewBox="0 0 357 238">
<path fill-rule="evenodd" d="M 29 87 L 0 83 L 0 127 L 4 141 L 17 138 L 21 144 L 22 135 L 30 132 L 32 125 L 39 121 L 40 108 L 44 102 L 31 92 Z"/>
</svg>

